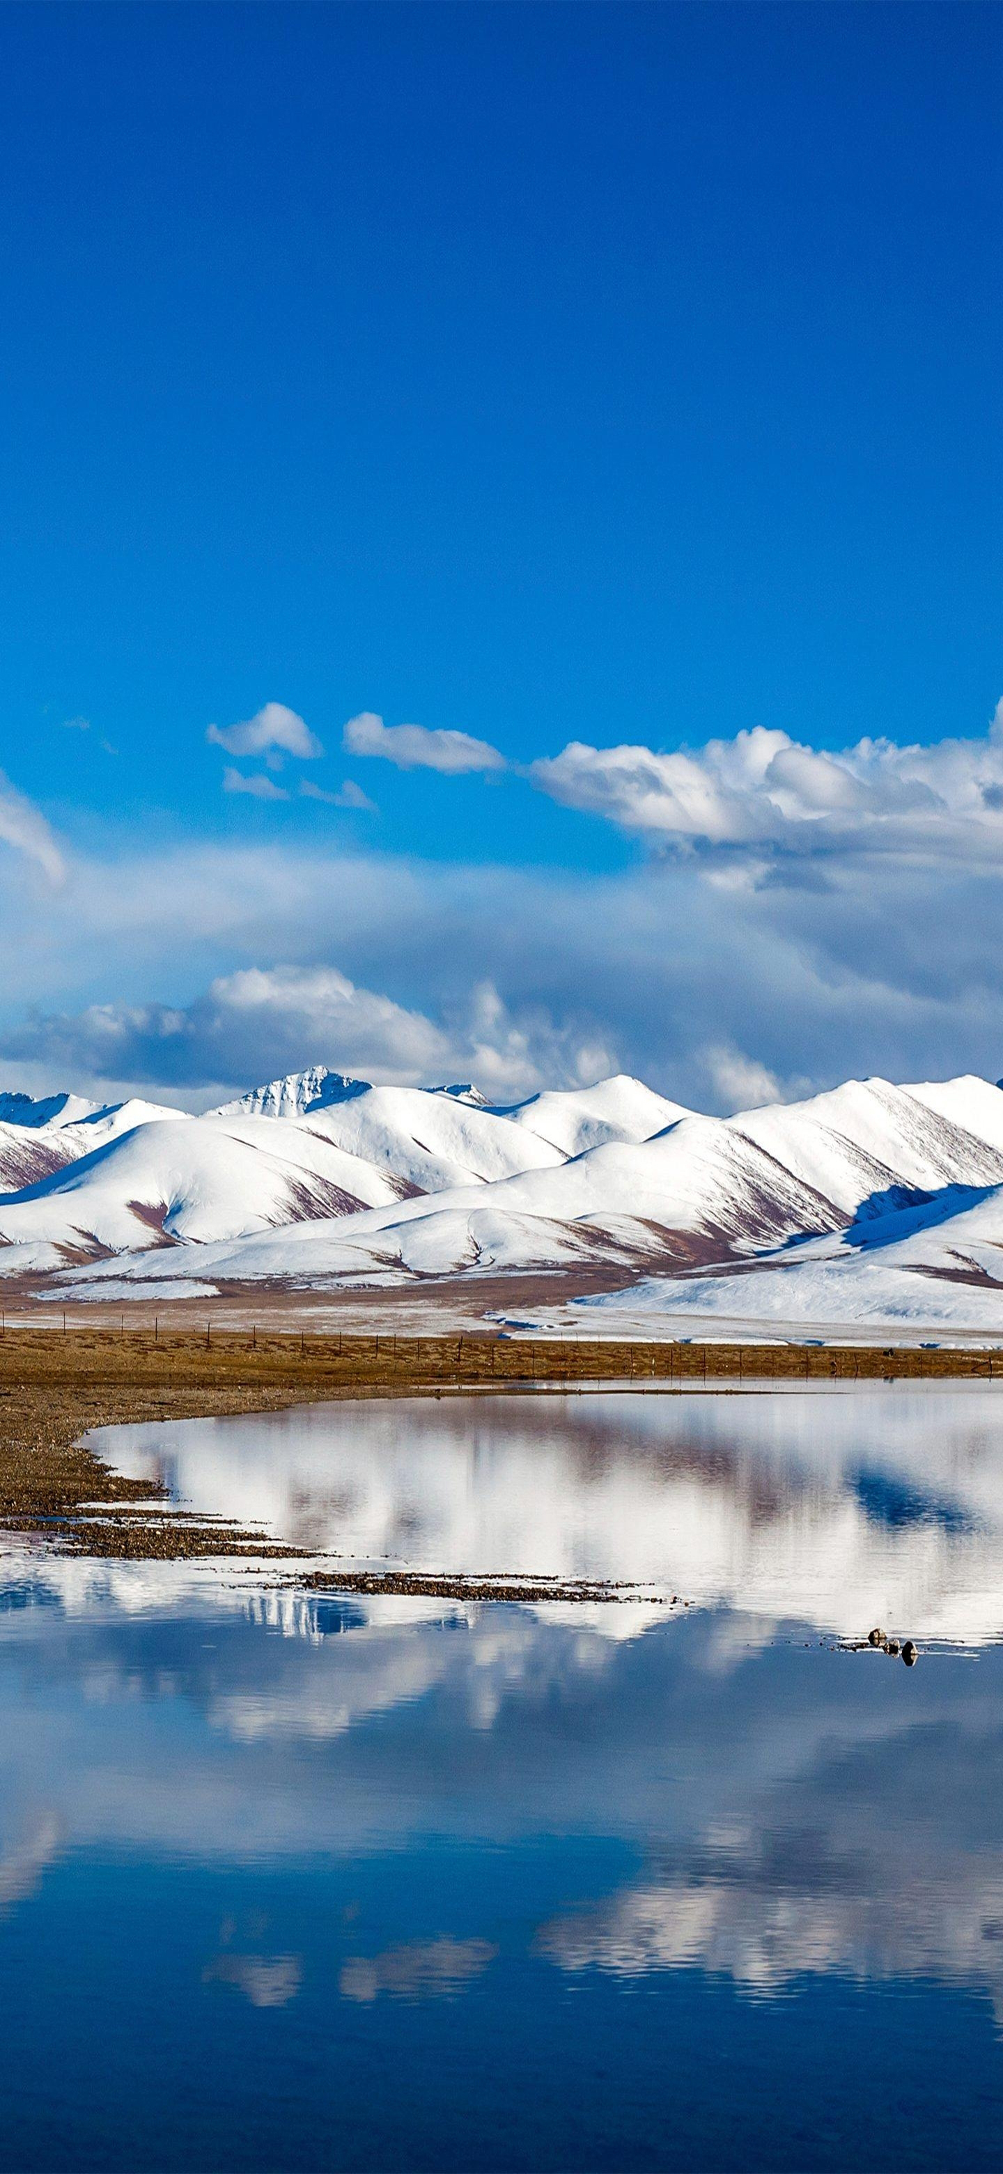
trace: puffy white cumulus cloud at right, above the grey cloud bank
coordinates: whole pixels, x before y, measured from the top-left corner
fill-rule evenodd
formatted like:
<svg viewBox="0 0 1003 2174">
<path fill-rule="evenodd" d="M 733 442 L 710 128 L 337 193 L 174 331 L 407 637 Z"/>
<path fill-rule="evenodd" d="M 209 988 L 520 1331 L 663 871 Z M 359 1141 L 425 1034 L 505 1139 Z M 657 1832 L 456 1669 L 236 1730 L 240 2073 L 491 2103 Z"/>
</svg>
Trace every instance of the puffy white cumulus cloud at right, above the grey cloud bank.
<svg viewBox="0 0 1003 2174">
<path fill-rule="evenodd" d="M 571 741 L 530 778 L 562 807 L 664 846 L 1003 863 L 1003 702 L 983 739 L 860 739 L 836 754 L 764 726 L 673 754 Z"/>
</svg>

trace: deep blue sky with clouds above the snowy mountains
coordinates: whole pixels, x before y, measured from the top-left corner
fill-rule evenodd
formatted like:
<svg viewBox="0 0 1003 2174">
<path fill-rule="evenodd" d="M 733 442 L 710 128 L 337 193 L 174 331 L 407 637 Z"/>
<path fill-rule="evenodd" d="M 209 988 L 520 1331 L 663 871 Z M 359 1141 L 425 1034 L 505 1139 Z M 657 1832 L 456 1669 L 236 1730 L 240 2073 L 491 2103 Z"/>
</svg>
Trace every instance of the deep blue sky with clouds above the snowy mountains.
<svg viewBox="0 0 1003 2174">
<path fill-rule="evenodd" d="M 499 1091 L 1003 1070 L 1001 57 L 964 0 L 2 11 L 9 1065 L 352 1065 L 330 991 L 198 1026 L 334 972 Z M 206 741 L 267 702 L 323 754 Z M 96 1004 L 154 1024 L 98 1063 Z"/>
</svg>

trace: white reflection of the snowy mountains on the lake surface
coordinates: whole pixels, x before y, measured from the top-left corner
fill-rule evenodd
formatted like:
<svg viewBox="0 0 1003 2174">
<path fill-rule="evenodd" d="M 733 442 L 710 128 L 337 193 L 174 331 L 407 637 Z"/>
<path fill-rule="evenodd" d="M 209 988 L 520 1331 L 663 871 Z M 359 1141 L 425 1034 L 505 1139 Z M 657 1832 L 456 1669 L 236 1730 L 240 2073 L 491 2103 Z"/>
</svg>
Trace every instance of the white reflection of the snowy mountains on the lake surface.
<svg viewBox="0 0 1003 2174">
<path fill-rule="evenodd" d="M 990 1383 L 415 1398 L 98 1441 L 200 1511 L 352 1565 L 614 1578 L 847 1637 L 1003 1633 Z"/>
</svg>

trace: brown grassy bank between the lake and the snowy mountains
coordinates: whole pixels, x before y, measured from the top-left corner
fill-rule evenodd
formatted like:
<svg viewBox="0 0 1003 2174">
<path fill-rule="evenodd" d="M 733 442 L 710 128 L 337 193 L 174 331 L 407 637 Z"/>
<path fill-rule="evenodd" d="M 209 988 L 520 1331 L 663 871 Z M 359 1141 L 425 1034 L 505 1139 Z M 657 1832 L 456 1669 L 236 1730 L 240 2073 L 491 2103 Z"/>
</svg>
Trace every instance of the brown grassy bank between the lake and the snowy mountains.
<svg viewBox="0 0 1003 2174">
<path fill-rule="evenodd" d="M 89 1428 L 119 1422 L 280 1411 L 328 1398 L 573 1389 L 612 1380 L 643 1391 L 727 1389 L 756 1380 L 947 1378 L 1003 1383 L 1003 1352 L 7 1328 L 0 1335 L 0 1526 L 89 1554 L 265 1552 L 250 1533 L 145 1507 L 145 1483 L 113 1474 L 80 1444 Z"/>
</svg>

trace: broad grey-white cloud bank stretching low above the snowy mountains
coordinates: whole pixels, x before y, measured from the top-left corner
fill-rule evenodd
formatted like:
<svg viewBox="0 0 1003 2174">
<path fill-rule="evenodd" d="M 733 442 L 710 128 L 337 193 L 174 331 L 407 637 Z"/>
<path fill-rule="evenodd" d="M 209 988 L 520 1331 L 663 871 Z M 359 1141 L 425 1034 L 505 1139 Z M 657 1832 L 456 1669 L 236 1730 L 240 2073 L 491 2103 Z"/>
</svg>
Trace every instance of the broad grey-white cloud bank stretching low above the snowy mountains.
<svg viewBox="0 0 1003 2174">
<path fill-rule="evenodd" d="M 992 757 L 994 739 L 970 746 Z M 0 1059 L 9 1085 L 33 1067 L 35 1091 L 115 1078 L 167 1100 L 202 1080 L 224 1100 L 308 1057 L 475 1078 L 497 1100 L 630 1070 L 703 1109 L 758 1100 L 762 1074 L 782 1094 L 873 1072 L 999 1078 L 1003 865 L 979 822 L 968 859 L 864 857 L 858 837 L 814 854 L 703 841 L 606 874 L 419 861 L 337 837 L 191 839 L 65 852 L 56 889 L 0 852 Z M 261 1007 L 254 1033 L 226 1002 L 213 1026 L 198 994 L 234 972 L 328 967 L 426 1020 L 423 1057 L 354 1057 L 339 1017 L 321 1037 L 308 1002 Z M 191 1026 L 172 1035 L 156 1022 L 174 1004 Z M 124 1009 L 139 1022 L 128 1033 Z"/>
</svg>

